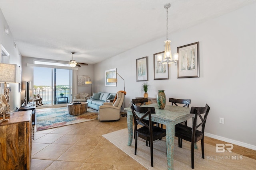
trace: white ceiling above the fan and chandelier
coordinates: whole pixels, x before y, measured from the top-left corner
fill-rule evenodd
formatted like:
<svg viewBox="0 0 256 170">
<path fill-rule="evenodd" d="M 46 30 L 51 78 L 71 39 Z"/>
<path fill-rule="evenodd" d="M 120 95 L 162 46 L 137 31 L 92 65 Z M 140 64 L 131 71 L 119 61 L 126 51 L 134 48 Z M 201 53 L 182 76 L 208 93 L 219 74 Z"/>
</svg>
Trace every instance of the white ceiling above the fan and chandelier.
<svg viewBox="0 0 256 170">
<path fill-rule="evenodd" d="M 0 0 L 24 57 L 95 64 L 255 0 Z M 169 36 L 169 39 L 172 37 Z M 163 42 L 164 47 L 164 42 Z"/>
</svg>

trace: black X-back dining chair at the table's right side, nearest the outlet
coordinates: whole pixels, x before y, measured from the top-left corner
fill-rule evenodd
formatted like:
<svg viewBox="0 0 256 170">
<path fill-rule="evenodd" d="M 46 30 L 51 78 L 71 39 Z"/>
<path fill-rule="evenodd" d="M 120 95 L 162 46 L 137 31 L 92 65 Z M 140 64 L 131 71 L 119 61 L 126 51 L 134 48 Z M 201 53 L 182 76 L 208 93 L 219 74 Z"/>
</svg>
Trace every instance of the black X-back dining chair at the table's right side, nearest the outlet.
<svg viewBox="0 0 256 170">
<path fill-rule="evenodd" d="M 175 125 L 175 136 L 178 137 L 178 140 L 179 140 L 178 146 L 180 148 L 182 147 L 182 139 L 191 142 L 192 169 L 194 169 L 194 143 L 200 140 L 201 140 L 201 147 L 202 147 L 202 158 L 204 159 L 204 127 L 205 127 L 206 118 L 208 116 L 209 110 L 210 110 L 210 107 L 207 104 L 205 107 L 191 107 L 190 114 L 195 114 L 192 127 L 188 127 L 183 124 Z M 204 118 L 202 117 L 201 114 L 205 114 Z M 202 130 L 198 130 L 198 127 L 200 126 L 202 126 Z"/>
</svg>

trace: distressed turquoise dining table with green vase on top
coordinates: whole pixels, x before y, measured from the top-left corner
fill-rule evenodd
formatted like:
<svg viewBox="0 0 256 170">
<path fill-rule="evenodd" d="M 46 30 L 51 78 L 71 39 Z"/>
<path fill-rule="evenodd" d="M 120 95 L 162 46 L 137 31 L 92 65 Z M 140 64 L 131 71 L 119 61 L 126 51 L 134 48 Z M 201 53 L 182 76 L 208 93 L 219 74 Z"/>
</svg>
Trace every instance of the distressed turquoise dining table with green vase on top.
<svg viewBox="0 0 256 170">
<path fill-rule="evenodd" d="M 166 125 L 167 167 L 168 170 L 173 170 L 175 125 L 194 117 L 194 114 L 190 114 L 190 107 L 166 105 L 164 109 L 158 109 L 157 104 L 142 105 L 142 107 L 155 107 L 156 113 L 151 114 L 152 121 Z M 126 107 L 124 110 L 127 113 L 128 146 L 131 146 L 133 139 L 132 109 Z M 144 114 L 138 113 L 138 117 L 142 117 L 142 115 Z"/>
</svg>

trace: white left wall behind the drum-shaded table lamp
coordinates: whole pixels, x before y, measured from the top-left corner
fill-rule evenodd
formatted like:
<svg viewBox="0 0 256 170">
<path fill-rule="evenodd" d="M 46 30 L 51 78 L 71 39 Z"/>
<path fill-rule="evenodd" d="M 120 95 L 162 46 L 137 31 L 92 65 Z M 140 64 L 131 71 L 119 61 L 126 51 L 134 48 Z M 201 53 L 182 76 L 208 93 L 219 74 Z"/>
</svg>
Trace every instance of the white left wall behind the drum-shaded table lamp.
<svg viewBox="0 0 256 170">
<path fill-rule="evenodd" d="M 2 10 L 0 9 L 0 44 L 8 51 L 10 54 L 10 64 L 17 64 L 21 66 L 21 55 L 19 54 L 18 46 L 14 48 L 14 37 L 12 36 L 12 31 L 9 29 L 9 35 L 5 34 L 5 28 L 9 29 L 9 26 L 4 18 Z M 18 84 L 10 83 L 11 92 L 9 94 L 10 97 L 10 111 L 16 111 L 17 108 L 20 107 L 20 93 L 18 92 Z M 4 83 L 1 85 L 4 87 Z M 1 88 L 1 93 L 3 93 L 3 89 Z"/>
</svg>

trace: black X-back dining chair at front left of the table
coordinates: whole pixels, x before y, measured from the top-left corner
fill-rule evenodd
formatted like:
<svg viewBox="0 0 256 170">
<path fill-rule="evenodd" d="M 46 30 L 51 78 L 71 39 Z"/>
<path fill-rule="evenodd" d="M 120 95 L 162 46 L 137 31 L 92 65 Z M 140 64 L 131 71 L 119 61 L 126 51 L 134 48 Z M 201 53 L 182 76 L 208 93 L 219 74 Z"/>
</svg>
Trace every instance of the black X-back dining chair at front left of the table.
<svg viewBox="0 0 256 170">
<path fill-rule="evenodd" d="M 141 107 L 141 106 L 136 106 L 132 104 L 131 106 L 132 109 L 132 115 L 134 119 L 134 128 L 135 128 L 135 152 L 134 154 L 136 155 L 137 153 L 137 142 L 138 142 L 138 137 L 149 141 L 150 142 L 150 157 L 151 157 L 151 166 L 153 167 L 153 141 L 156 141 L 158 139 L 162 139 L 162 137 L 166 136 L 166 130 L 162 129 L 157 126 L 152 125 L 152 120 L 151 120 L 151 113 L 155 113 L 155 107 Z M 141 113 L 143 114 L 142 117 L 138 117 L 138 115 L 135 113 Z M 148 116 L 148 123 L 145 122 L 145 117 Z M 139 123 L 142 123 L 143 126 L 138 128 Z"/>
</svg>

